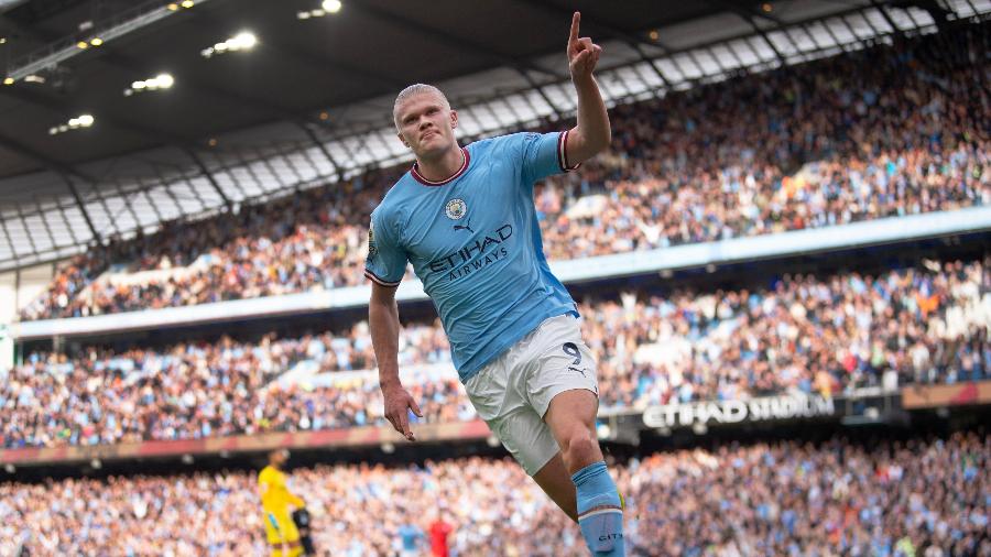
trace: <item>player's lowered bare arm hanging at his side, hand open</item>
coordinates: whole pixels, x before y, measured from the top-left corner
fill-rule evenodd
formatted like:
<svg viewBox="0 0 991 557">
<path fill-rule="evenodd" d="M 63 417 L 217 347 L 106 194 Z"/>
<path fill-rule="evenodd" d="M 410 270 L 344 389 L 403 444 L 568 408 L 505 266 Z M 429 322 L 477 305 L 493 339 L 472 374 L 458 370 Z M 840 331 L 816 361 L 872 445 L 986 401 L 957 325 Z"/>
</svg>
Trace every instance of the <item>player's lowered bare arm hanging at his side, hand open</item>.
<svg viewBox="0 0 991 557">
<path fill-rule="evenodd" d="M 372 282 L 371 299 L 368 304 L 368 325 L 371 329 L 372 347 L 379 363 L 379 386 L 385 402 L 385 418 L 396 432 L 415 441 L 410 429 L 409 409 L 423 417 L 416 401 L 403 389 L 399 379 L 399 306 L 395 303 L 395 286 L 383 286 Z"/>
</svg>

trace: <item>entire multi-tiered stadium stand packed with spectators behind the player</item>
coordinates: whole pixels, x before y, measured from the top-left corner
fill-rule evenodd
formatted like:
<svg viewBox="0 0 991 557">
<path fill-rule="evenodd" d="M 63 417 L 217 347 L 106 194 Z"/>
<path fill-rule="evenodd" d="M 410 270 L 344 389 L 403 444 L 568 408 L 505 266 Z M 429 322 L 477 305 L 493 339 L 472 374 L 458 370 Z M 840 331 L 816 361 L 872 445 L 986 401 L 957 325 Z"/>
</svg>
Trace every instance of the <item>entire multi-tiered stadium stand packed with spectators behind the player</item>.
<svg viewBox="0 0 991 557">
<path fill-rule="evenodd" d="M 597 433 L 625 495 L 629 555 L 991 556 L 991 223 L 923 230 L 917 245 L 906 230 L 856 256 L 852 232 L 991 201 L 991 4 L 967 4 L 973 18 L 954 25 L 891 23 L 863 50 L 837 42 L 792 65 L 778 54 L 619 102 L 610 152 L 537 186 L 555 263 L 849 237 L 818 259 L 622 281 L 591 260 L 566 281 L 599 362 Z M 293 449 L 319 555 L 427 555 L 439 520 L 457 556 L 587 555 L 478 421 L 427 304 L 401 299 L 416 444 L 382 417 L 363 307 L 86 329 L 149 309 L 367 296 L 355 286 L 368 215 L 407 167 L 336 168 L 350 177 L 181 211 L 61 261 L 10 329 L 15 364 L 0 362 L 0 557 L 266 555 L 252 459 L 279 447 Z M 819 403 L 823 415 L 803 415 Z"/>
</svg>

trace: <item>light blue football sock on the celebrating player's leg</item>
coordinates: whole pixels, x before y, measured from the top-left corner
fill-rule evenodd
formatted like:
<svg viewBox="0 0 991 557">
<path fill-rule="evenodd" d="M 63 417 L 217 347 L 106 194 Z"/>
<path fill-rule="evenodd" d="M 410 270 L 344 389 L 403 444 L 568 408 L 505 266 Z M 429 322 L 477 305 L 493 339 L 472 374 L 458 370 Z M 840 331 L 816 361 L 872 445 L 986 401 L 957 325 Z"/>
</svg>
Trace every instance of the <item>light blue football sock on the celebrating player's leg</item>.
<svg viewBox="0 0 991 557">
<path fill-rule="evenodd" d="M 578 527 L 596 557 L 625 555 L 623 507 L 606 462 L 588 465 L 571 476 L 578 488 Z"/>
</svg>

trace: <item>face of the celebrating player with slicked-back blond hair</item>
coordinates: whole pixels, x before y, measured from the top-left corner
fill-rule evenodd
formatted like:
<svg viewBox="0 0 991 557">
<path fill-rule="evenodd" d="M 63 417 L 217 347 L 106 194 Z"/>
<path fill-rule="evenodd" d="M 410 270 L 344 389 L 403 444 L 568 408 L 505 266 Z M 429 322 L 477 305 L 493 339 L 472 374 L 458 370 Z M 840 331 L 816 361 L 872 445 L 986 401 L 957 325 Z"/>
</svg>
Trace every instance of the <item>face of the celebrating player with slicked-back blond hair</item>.
<svg viewBox="0 0 991 557">
<path fill-rule="evenodd" d="M 438 156 L 456 145 L 458 114 L 437 95 L 414 95 L 396 110 L 399 138 L 417 159 Z"/>
</svg>

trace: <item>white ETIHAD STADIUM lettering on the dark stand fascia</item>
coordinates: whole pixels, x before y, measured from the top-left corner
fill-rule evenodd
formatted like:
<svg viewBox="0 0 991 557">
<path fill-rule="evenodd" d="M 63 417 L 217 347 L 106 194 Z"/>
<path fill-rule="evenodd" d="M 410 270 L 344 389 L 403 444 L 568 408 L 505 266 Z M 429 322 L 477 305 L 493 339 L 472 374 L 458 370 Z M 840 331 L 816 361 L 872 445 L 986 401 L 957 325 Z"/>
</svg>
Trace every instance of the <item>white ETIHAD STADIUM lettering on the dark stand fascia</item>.
<svg viewBox="0 0 991 557">
<path fill-rule="evenodd" d="M 647 427 L 674 428 L 740 424 L 836 415 L 834 398 L 820 395 L 764 396 L 749 401 L 710 401 L 650 406 L 643 412 Z"/>
</svg>

